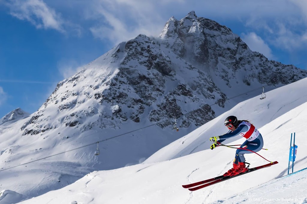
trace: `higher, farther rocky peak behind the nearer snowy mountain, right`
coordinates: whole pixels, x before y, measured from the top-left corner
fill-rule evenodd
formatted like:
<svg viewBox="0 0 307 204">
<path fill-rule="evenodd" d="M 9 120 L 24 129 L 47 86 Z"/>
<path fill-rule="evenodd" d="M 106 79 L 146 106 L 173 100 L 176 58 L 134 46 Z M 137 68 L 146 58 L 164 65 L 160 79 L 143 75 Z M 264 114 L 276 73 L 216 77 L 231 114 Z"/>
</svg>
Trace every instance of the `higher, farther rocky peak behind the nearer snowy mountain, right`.
<svg viewBox="0 0 307 204">
<path fill-rule="evenodd" d="M 261 53 L 251 51 L 231 29 L 197 17 L 194 11 L 180 21 L 171 17 L 160 38 L 164 47 L 210 74 L 223 90 L 236 85 L 252 87 L 254 83 L 288 84 L 306 77 L 305 70 L 268 60 Z"/>
</svg>

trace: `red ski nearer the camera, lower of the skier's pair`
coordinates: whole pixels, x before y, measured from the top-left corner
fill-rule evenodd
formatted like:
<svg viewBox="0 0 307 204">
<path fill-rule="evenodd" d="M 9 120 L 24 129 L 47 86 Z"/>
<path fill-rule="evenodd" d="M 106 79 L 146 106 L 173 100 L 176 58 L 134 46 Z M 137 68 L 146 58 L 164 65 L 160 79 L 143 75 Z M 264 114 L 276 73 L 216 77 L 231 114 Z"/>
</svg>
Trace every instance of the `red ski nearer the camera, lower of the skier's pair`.
<svg viewBox="0 0 307 204">
<path fill-rule="evenodd" d="M 200 185 L 200 184 L 202 184 L 202 182 L 204 182 L 205 184 L 197 186 L 197 187 L 194 187 L 194 188 L 189 188 L 189 190 L 190 191 L 196 191 L 196 190 L 199 190 L 201 188 L 204 188 L 204 187 L 207 187 L 207 186 L 211 186 L 213 184 L 216 184 L 216 183 L 228 180 L 228 179 L 232 179 L 234 177 L 241 176 L 243 174 L 246 174 L 246 173 L 249 173 L 249 172 L 253 172 L 253 171 L 256 171 L 256 170 L 261 169 L 261 168 L 270 167 L 270 166 L 272 166 L 274 164 L 278 164 L 278 161 L 274 161 L 274 162 L 272 162 L 270 164 L 265 164 L 265 165 L 262 165 L 262 166 L 257 166 L 257 167 L 254 167 L 254 168 L 250 168 L 248 171 L 243 172 L 243 173 L 239 173 L 238 175 L 235 175 L 235 176 L 225 176 L 225 177 L 223 176 L 222 178 L 221 178 L 221 176 L 218 176 L 218 177 L 216 177 L 218 179 L 215 179 L 215 178 L 208 179 L 208 180 L 212 180 L 211 182 L 207 181 L 207 180 L 204 180 L 204 181 L 197 182 L 199 184 L 191 183 L 192 185 L 194 184 L 193 186 Z M 188 185 L 191 185 L 191 184 L 188 184 Z M 187 186 L 187 185 L 185 185 L 185 186 Z"/>
</svg>

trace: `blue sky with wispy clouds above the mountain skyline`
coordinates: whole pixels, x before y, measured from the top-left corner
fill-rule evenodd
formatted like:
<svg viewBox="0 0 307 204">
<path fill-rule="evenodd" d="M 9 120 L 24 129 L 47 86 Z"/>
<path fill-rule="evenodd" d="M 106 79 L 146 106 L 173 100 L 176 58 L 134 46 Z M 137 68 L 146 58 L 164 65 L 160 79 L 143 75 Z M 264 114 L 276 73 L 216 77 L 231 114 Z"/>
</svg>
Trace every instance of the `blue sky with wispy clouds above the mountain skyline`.
<svg viewBox="0 0 307 204">
<path fill-rule="evenodd" d="M 0 0 L 0 118 L 37 111 L 84 64 L 140 33 L 158 36 L 192 10 L 251 50 L 307 69 L 305 0 Z"/>
</svg>

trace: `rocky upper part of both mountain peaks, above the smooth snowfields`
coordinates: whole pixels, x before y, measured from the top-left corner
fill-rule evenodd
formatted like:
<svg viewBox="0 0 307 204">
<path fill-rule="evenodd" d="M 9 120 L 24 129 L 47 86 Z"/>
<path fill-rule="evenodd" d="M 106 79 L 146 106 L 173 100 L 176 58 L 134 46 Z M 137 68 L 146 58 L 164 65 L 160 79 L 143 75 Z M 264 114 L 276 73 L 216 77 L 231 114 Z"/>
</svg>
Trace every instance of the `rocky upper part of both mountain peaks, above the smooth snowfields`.
<svg viewBox="0 0 307 204">
<path fill-rule="evenodd" d="M 21 130 L 33 135 L 64 126 L 84 132 L 180 117 L 181 127 L 195 129 L 231 108 L 230 96 L 270 90 L 306 74 L 251 51 L 229 28 L 190 12 L 180 21 L 170 18 L 158 39 L 139 35 L 120 43 L 60 82 Z"/>
</svg>

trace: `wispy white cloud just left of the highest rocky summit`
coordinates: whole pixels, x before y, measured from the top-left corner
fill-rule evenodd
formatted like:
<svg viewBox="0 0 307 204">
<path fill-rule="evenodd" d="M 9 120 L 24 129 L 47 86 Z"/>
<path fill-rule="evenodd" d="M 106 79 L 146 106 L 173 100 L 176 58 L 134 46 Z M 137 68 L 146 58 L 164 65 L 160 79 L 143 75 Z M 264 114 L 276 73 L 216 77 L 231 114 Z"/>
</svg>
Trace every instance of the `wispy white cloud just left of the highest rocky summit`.
<svg viewBox="0 0 307 204">
<path fill-rule="evenodd" d="M 85 18 L 100 19 L 90 28 L 93 36 L 119 43 L 139 34 L 157 36 L 165 22 L 155 9 L 152 1 L 97 0 Z"/>
</svg>

